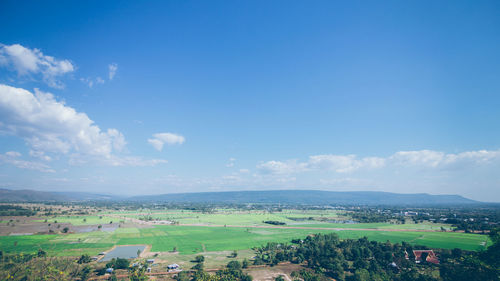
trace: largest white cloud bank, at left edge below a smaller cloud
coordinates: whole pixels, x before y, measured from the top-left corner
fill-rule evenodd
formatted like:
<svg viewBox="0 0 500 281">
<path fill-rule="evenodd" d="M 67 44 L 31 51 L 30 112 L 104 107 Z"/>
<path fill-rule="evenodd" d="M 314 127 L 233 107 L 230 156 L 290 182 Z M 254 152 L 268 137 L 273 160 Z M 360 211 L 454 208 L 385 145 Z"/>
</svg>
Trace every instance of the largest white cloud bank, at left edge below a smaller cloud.
<svg viewBox="0 0 500 281">
<path fill-rule="evenodd" d="M 50 93 L 0 85 L 0 130 L 22 137 L 34 151 L 68 153 L 72 150 L 109 157 L 125 146 L 116 129 L 107 132 L 87 114 L 57 101 Z"/>
</svg>

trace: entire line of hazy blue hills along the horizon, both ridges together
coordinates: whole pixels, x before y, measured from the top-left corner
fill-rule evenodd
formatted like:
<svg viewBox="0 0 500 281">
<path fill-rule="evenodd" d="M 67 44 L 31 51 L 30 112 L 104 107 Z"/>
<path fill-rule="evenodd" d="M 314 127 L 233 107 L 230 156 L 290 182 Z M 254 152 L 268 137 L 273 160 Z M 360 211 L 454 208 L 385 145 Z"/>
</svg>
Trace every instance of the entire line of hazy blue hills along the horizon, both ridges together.
<svg viewBox="0 0 500 281">
<path fill-rule="evenodd" d="M 192 203 L 282 203 L 304 205 L 463 205 L 483 204 L 459 195 L 400 194 L 378 191 L 269 190 L 173 193 L 120 197 L 85 192 L 0 189 L 0 202 L 134 201 Z"/>
</svg>

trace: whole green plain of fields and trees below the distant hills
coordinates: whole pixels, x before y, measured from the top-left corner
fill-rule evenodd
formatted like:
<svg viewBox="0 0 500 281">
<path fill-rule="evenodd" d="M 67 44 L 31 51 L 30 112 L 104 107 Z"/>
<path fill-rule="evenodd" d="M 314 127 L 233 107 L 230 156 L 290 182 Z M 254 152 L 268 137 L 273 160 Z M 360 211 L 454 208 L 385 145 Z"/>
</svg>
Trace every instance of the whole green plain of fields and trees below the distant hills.
<svg viewBox="0 0 500 281">
<path fill-rule="evenodd" d="M 91 260 L 119 245 L 148 246 L 134 263 L 154 257 L 162 268 L 181 264 L 178 280 L 251 280 L 252 266 L 282 262 L 299 266 L 288 274 L 297 280 L 498 278 L 495 208 L 132 206 L 4 205 L 0 280 L 86 280 L 108 267 L 117 271 L 106 278 L 147 280 L 149 265 Z M 449 223 L 457 217 L 460 224 Z M 439 265 L 415 263 L 412 250 L 426 248 Z"/>
</svg>

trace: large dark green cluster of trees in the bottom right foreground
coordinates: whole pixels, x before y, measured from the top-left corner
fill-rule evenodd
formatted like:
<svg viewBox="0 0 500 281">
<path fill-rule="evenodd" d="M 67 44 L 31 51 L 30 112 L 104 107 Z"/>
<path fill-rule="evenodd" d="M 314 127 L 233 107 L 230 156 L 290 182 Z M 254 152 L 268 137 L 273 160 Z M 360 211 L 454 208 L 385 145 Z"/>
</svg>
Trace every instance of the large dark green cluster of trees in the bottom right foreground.
<svg viewBox="0 0 500 281">
<path fill-rule="evenodd" d="M 336 234 L 318 234 L 295 240 L 295 245 L 268 243 L 257 248 L 254 264 L 306 264 L 313 271 L 298 274 L 306 281 L 320 280 L 321 276 L 348 281 L 500 280 L 500 235 L 493 231 L 491 237 L 493 246 L 481 253 L 437 250 L 441 263 L 435 265 L 426 262 L 425 255 L 421 263 L 415 263 L 413 250 L 417 246 L 405 242 L 380 243 L 366 237 L 340 240 Z"/>
</svg>

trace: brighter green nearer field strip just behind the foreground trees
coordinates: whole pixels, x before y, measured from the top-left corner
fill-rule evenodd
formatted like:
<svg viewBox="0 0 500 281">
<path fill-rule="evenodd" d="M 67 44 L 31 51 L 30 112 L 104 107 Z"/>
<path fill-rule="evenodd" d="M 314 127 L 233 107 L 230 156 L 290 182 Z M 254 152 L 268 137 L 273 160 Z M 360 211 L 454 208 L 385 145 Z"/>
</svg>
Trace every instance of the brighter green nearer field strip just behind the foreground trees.
<svg viewBox="0 0 500 281">
<path fill-rule="evenodd" d="M 181 254 L 205 251 L 243 250 L 267 242 L 289 242 L 309 234 L 329 233 L 329 230 L 206 227 L 206 226 L 155 226 L 151 228 L 119 228 L 114 232 L 89 232 L 67 235 L 2 236 L 0 248 L 4 252 L 36 252 L 39 248 L 51 255 L 72 256 L 82 253 L 95 255 L 113 245 L 148 244 L 153 252 L 167 252 L 174 247 Z M 341 238 L 407 241 L 434 248 L 484 249 L 487 236 L 450 232 L 397 232 L 397 231 L 336 231 Z"/>
</svg>

